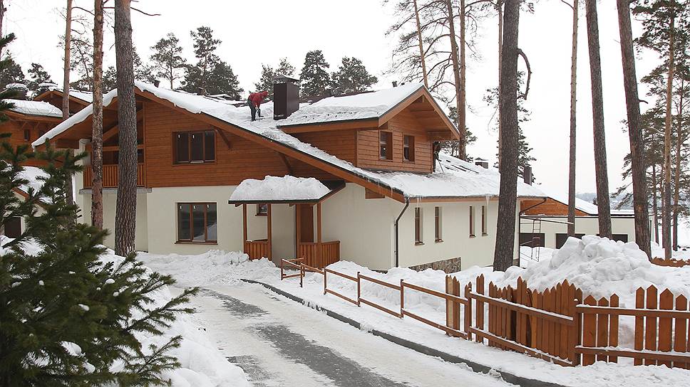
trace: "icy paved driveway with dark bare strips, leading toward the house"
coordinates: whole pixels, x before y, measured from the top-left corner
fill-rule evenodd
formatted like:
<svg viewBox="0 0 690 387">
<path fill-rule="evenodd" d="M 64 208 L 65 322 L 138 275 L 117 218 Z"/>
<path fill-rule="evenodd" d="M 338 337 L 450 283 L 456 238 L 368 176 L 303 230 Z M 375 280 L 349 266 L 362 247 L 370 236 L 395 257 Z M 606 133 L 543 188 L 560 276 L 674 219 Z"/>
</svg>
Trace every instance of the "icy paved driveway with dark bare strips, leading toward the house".
<svg viewBox="0 0 690 387">
<path fill-rule="evenodd" d="M 259 285 L 207 287 L 192 306 L 254 386 L 510 386 L 361 332 Z"/>
</svg>

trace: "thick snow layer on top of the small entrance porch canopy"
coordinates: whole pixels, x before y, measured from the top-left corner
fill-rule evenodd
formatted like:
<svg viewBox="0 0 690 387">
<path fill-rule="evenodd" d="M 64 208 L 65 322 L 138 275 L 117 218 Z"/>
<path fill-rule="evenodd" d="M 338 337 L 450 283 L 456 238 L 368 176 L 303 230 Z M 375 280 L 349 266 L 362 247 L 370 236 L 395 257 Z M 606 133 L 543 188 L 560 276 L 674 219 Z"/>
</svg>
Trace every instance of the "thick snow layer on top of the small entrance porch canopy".
<svg viewBox="0 0 690 387">
<path fill-rule="evenodd" d="M 232 192 L 230 201 L 316 200 L 330 191 L 313 177 L 266 176 L 263 180 L 243 180 Z"/>
</svg>

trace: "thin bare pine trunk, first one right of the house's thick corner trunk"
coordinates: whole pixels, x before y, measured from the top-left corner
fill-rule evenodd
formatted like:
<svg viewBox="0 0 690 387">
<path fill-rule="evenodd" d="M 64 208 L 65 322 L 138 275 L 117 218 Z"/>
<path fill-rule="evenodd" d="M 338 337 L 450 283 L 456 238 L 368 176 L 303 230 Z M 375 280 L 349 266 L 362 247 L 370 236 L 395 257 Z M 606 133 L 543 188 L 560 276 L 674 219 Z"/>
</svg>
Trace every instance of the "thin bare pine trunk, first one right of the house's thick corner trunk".
<svg viewBox="0 0 690 387">
<path fill-rule="evenodd" d="M 577 158 L 577 0 L 572 4 L 572 46 L 570 53 L 570 163 L 568 173 L 568 236 L 575 235 L 575 161 Z"/>
</svg>

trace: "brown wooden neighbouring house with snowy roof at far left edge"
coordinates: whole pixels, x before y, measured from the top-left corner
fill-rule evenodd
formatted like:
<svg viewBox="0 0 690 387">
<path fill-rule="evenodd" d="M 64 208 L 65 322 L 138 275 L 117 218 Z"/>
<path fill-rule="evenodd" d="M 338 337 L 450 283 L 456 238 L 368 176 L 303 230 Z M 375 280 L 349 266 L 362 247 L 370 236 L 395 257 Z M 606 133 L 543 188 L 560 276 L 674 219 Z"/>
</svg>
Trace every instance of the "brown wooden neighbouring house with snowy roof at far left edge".
<svg viewBox="0 0 690 387">
<path fill-rule="evenodd" d="M 14 107 L 3 112 L 8 120 L 0 122 L 0 133 L 11 134 L 9 143 L 13 147 L 24 144 L 31 148 L 31 142 L 62 121 L 61 111 L 47 102 L 11 99 L 4 101 L 11 102 Z M 41 161 L 29 160 L 24 164 L 35 166 L 40 165 Z"/>
</svg>

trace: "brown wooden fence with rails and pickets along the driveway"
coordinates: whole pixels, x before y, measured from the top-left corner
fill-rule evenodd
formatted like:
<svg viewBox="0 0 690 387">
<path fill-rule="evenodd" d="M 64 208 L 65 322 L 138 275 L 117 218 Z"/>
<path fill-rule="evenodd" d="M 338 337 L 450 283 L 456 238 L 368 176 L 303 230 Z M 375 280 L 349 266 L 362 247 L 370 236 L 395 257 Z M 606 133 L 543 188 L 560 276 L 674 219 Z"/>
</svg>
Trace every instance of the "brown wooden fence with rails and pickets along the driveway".
<svg viewBox="0 0 690 387">
<path fill-rule="evenodd" d="M 582 290 L 567 280 L 538 292 L 522 278 L 517 279 L 515 288 L 498 287 L 493 282 L 485 287 L 485 278 L 480 275 L 473 291 L 472 283 L 463 287 L 455 277 L 446 276 L 446 292 L 439 292 L 403 280 L 398 285 L 360 272 L 355 277 L 329 268 L 319 270 L 301 260 L 283 261 L 298 268 L 299 273 L 284 275 L 281 265 L 281 279 L 299 276 L 302 285 L 305 272 L 316 272 L 324 276 L 324 295 L 335 295 L 358 307 L 366 304 L 394 317 L 411 317 L 450 336 L 518 351 L 561 366 L 588 366 L 594 361 L 617 362 L 619 357 L 627 357 L 634 359 L 635 365 L 690 369 L 688 299 L 684 295 L 676 297 L 669 290 L 658 295 L 654 286 L 639 288 L 635 308 L 629 309 L 619 307 L 618 295 L 583 299 Z M 354 282 L 356 299 L 329 289 L 329 275 Z M 398 291 L 399 312 L 362 297 L 362 282 Z M 446 323 L 406 309 L 406 290 L 444 299 Z M 634 349 L 619 347 L 620 316 L 634 317 Z"/>
</svg>

